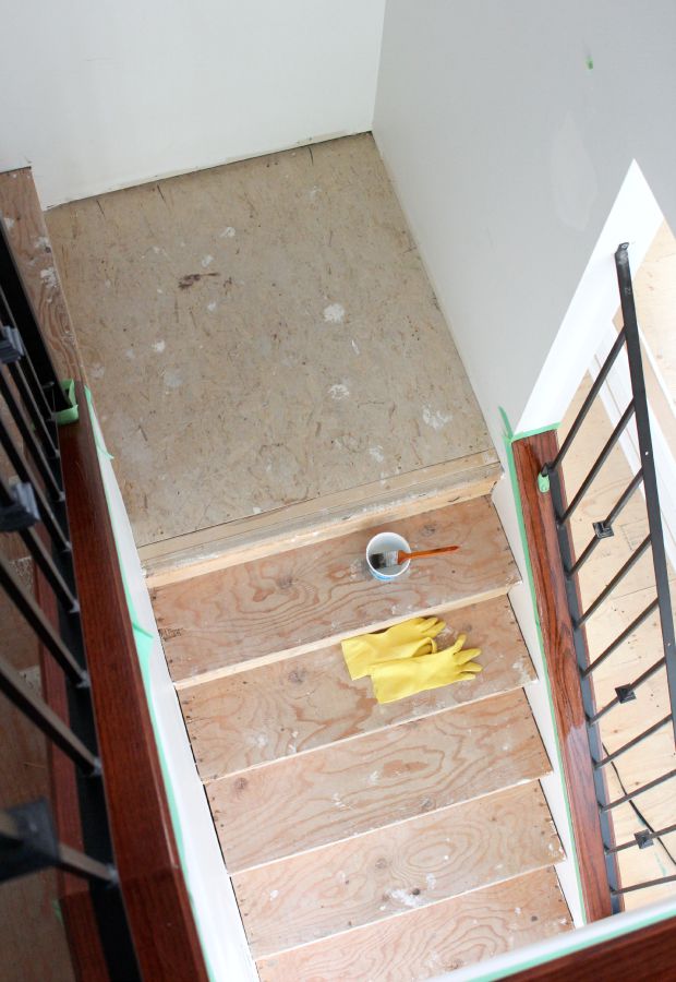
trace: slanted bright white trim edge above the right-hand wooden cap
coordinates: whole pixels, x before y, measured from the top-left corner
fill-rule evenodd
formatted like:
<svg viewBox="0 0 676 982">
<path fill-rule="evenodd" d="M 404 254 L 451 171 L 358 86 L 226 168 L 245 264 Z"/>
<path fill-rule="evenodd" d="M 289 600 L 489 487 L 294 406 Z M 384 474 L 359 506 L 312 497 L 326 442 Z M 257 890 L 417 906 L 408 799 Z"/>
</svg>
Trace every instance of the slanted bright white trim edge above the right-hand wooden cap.
<svg viewBox="0 0 676 982">
<path fill-rule="evenodd" d="M 663 220 L 650 185 L 633 160 L 526 404 L 517 433 L 540 430 L 564 418 L 589 367 L 590 354 L 600 347 L 617 311 L 615 250 L 620 242 L 630 242 L 631 264 L 638 270 Z"/>
</svg>

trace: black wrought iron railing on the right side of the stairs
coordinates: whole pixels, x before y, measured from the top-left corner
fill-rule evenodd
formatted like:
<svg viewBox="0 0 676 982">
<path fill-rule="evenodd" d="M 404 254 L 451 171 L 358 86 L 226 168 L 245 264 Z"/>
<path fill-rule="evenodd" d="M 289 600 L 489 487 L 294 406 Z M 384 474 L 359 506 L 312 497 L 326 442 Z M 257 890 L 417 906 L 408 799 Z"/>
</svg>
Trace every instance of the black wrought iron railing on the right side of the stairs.
<svg viewBox="0 0 676 982">
<path fill-rule="evenodd" d="M 638 830 L 630 841 L 617 843 L 615 840 L 613 813 L 614 811 L 628 802 L 635 802 L 642 794 L 657 788 L 660 785 L 672 780 L 676 777 L 676 770 L 665 770 L 657 778 L 654 778 L 644 785 L 635 788 L 630 792 L 621 794 L 613 799 L 607 790 L 607 781 L 604 778 L 604 768 L 613 764 L 631 749 L 636 747 L 643 741 L 649 740 L 654 733 L 664 727 L 674 729 L 676 726 L 674 717 L 674 707 L 676 706 L 676 650 L 674 647 L 674 620 L 672 614 L 672 604 L 669 596 L 669 584 L 667 563 L 665 554 L 664 536 L 662 528 L 662 515 L 660 511 L 660 500 L 657 493 L 657 477 L 655 470 L 655 462 L 653 455 L 653 445 L 650 431 L 648 398 L 645 393 L 645 383 L 643 378 L 642 359 L 641 359 L 641 340 L 639 327 L 637 323 L 636 307 L 633 301 L 633 289 L 631 284 L 631 274 L 629 270 L 628 244 L 623 243 L 615 253 L 615 265 L 617 271 L 617 280 L 619 286 L 623 327 L 618 333 L 617 340 L 613 345 L 607 358 L 605 359 L 599 374 L 596 375 L 589 395 L 577 415 L 568 434 L 560 446 L 555 459 L 545 465 L 541 474 L 543 488 L 548 488 L 552 494 L 552 504 L 556 519 L 556 529 L 558 546 L 560 551 L 560 560 L 566 582 L 566 595 L 570 619 L 572 621 L 572 633 L 575 642 L 575 650 L 577 656 L 577 664 L 579 670 L 579 680 L 587 717 L 587 728 L 589 738 L 589 747 L 593 764 L 595 793 L 599 804 L 599 815 L 601 822 L 601 831 L 604 840 L 604 851 L 606 857 L 606 872 L 611 890 L 613 910 L 618 911 L 623 907 L 621 897 L 624 894 L 633 890 L 641 890 L 660 884 L 676 881 L 676 875 L 667 875 L 660 878 L 647 879 L 637 884 L 623 885 L 618 877 L 617 857 L 629 849 L 644 849 L 652 845 L 655 840 L 676 831 L 676 825 L 669 824 L 665 828 L 652 829 L 651 827 Z M 576 438 L 588 417 L 590 409 L 595 400 L 600 397 L 604 383 L 608 380 L 608 375 L 616 364 L 620 352 L 626 352 L 628 362 L 629 379 L 631 384 L 630 400 L 621 412 L 619 421 L 615 426 L 609 439 L 603 446 L 599 457 L 589 469 L 587 476 L 580 483 L 579 489 L 575 492 L 570 502 L 566 500 L 566 490 L 564 482 L 563 464 L 572 447 L 576 446 Z M 636 436 L 638 441 L 638 452 L 640 466 L 637 472 L 631 477 L 627 487 L 620 494 L 617 502 L 601 517 L 600 520 L 593 523 L 592 535 L 589 542 L 579 554 L 576 554 L 572 544 L 571 518 L 586 500 L 586 496 L 600 474 L 603 465 L 608 459 L 613 450 L 617 446 L 623 434 L 627 431 L 630 421 L 633 420 L 636 426 Z M 595 598 L 582 606 L 579 574 L 582 567 L 588 563 L 594 553 L 599 543 L 614 535 L 613 526 L 618 516 L 626 507 L 635 492 L 642 488 L 645 501 L 645 512 L 648 517 L 648 535 L 640 544 L 633 549 L 629 559 L 621 565 L 618 572 L 611 580 L 601 589 Z M 604 650 L 594 654 L 589 650 L 586 626 L 593 615 L 607 603 L 613 592 L 625 579 L 627 574 L 636 566 L 641 556 L 652 552 L 652 564 L 654 572 L 654 596 L 644 609 L 631 621 L 631 623 L 623 630 L 615 639 L 607 645 Z M 635 679 L 617 678 L 615 687 L 615 696 L 605 705 L 599 707 L 594 696 L 594 673 L 601 666 L 605 664 L 607 669 L 607 659 L 611 658 L 625 642 L 627 642 L 638 628 L 648 621 L 654 613 L 659 612 L 662 650 L 655 656 L 649 667 Z M 623 746 L 613 753 L 606 753 L 600 731 L 600 723 L 603 718 L 617 706 L 630 703 L 636 698 L 636 692 L 651 679 L 654 679 L 662 669 L 666 670 L 666 680 L 668 685 L 669 711 L 661 719 L 648 727 L 643 732 L 627 741 Z M 615 681 L 615 680 L 614 680 Z"/>
</svg>

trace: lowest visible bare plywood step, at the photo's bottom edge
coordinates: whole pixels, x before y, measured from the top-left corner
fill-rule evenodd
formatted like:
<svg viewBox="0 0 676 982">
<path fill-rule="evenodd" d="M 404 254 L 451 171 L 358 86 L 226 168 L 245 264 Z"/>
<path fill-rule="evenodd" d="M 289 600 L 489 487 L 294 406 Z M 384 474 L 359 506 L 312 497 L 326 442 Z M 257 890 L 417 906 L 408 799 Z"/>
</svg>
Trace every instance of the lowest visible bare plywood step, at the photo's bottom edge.
<svg viewBox="0 0 676 982">
<path fill-rule="evenodd" d="M 261 982 L 412 982 L 571 927 L 553 869 L 262 958 Z"/>
</svg>

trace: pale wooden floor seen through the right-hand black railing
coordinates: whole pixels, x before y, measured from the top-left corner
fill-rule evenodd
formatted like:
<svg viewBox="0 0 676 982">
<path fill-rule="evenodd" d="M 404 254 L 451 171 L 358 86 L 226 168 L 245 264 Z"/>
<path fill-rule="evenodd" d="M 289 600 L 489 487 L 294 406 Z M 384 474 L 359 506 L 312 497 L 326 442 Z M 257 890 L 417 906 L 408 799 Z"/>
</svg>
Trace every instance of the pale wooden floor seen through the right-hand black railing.
<svg viewBox="0 0 676 982">
<path fill-rule="evenodd" d="M 669 394 L 669 399 L 664 405 L 659 404 L 657 416 L 676 456 L 676 441 L 672 435 L 676 402 L 675 262 L 676 242 L 665 225 L 660 230 L 645 263 L 635 274 L 635 295 L 641 330 L 653 349 L 654 364 L 663 376 L 662 386 L 657 386 L 650 360 L 644 356 L 649 399 L 652 406 L 656 394 Z M 575 419 L 590 386 L 591 379 L 587 375 L 562 426 L 559 434 L 562 439 Z M 597 400 L 564 465 L 569 496 L 581 483 L 612 430 L 607 412 Z M 578 553 L 592 536 L 592 522 L 605 517 L 630 479 L 631 471 L 627 459 L 623 451 L 616 447 L 574 518 L 572 532 Z M 594 600 L 648 534 L 645 504 L 641 492 L 632 495 L 616 519 L 614 529 L 614 537 L 603 540 L 582 568 L 580 588 L 584 607 Z M 676 614 L 676 575 L 671 567 L 669 580 L 672 604 Z M 589 621 L 587 634 L 592 652 L 599 655 L 603 651 L 653 597 L 654 574 L 651 552 L 648 550 L 617 586 L 608 602 Z M 604 706 L 615 697 L 615 686 L 638 679 L 659 659 L 661 648 L 660 621 L 655 614 L 594 672 L 597 705 Z M 603 744 L 608 753 L 615 752 L 669 712 L 664 670 L 638 688 L 636 695 L 636 700 L 616 706 L 602 721 Z M 608 792 L 613 799 L 620 798 L 674 768 L 676 768 L 674 734 L 671 726 L 665 726 L 605 768 Z M 673 825 L 676 814 L 676 780 L 672 779 L 642 794 L 633 805 L 630 803 L 621 805 L 613 814 L 618 843 L 631 841 L 635 833 L 642 829 L 655 830 Z M 626 850 L 619 853 L 618 862 L 625 886 L 674 875 L 676 834 L 663 836 L 649 849 Z M 674 893 L 676 893 L 675 883 L 664 884 L 627 894 L 625 905 L 627 909 L 632 909 L 673 896 Z"/>
</svg>

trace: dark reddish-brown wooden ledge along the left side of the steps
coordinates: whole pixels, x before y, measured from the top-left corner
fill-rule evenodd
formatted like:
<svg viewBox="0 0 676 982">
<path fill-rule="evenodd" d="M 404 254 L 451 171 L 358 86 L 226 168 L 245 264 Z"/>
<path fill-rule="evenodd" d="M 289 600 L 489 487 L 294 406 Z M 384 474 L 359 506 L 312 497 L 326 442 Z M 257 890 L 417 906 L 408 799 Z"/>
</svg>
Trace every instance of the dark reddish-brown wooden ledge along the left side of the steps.
<svg viewBox="0 0 676 982">
<path fill-rule="evenodd" d="M 116 865 L 141 972 L 207 972 L 181 871 L 84 386 L 60 447 Z"/>
</svg>

